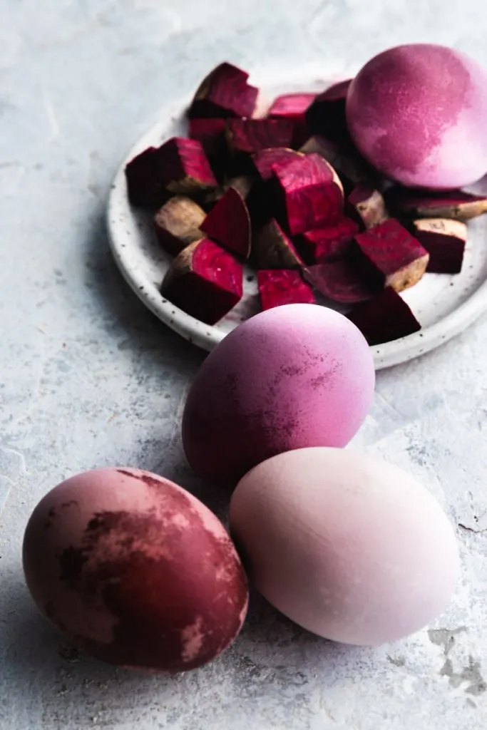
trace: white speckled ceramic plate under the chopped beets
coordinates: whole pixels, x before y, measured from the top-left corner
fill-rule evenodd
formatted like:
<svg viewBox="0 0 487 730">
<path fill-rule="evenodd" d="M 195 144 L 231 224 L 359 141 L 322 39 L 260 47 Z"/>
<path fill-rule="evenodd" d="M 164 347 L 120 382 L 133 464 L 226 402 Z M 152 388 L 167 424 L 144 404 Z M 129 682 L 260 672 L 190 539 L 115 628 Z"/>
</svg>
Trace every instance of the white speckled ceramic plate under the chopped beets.
<svg viewBox="0 0 487 730">
<path fill-rule="evenodd" d="M 311 79 L 311 81 L 310 81 Z M 267 99 L 289 91 L 321 91 L 330 80 L 302 74 L 301 82 L 252 79 Z M 234 310 L 215 326 L 187 315 L 164 299 L 159 292 L 169 267 L 169 255 L 158 245 L 152 218 L 129 205 L 124 169 L 129 160 L 150 145 L 158 146 L 175 135 L 185 136 L 184 110 L 189 99 L 161 112 L 161 120 L 139 139 L 120 165 L 110 193 L 107 224 L 115 261 L 126 281 L 147 307 L 164 323 L 204 350 L 212 350 L 239 323 L 259 310 L 256 276 L 245 272 L 244 297 Z M 487 193 L 487 180 L 477 185 Z M 372 347 L 376 369 L 396 365 L 441 345 L 469 326 L 487 308 L 487 218 L 469 223 L 469 239 L 461 274 L 426 274 L 420 283 L 404 292 L 422 330 L 409 337 Z"/>
</svg>

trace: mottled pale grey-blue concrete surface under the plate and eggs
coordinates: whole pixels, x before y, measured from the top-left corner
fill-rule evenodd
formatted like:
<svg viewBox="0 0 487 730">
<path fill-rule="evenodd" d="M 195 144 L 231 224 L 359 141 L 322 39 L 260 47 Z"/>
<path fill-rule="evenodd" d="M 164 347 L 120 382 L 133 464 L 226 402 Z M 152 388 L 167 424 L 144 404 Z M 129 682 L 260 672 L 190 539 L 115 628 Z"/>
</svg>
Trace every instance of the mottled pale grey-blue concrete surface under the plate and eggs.
<svg viewBox="0 0 487 730">
<path fill-rule="evenodd" d="M 377 650 L 306 634 L 254 596 L 219 661 L 141 677 L 78 656 L 37 614 L 20 545 L 67 475 L 131 464 L 220 514 L 180 452 L 202 354 L 120 280 L 110 178 L 161 101 L 223 59 L 358 66 L 434 40 L 487 64 L 480 0 L 0 0 L 0 727 L 15 730 L 480 730 L 487 723 L 487 318 L 380 374 L 356 447 L 404 466 L 458 531 L 463 575 L 429 631 Z"/>
</svg>

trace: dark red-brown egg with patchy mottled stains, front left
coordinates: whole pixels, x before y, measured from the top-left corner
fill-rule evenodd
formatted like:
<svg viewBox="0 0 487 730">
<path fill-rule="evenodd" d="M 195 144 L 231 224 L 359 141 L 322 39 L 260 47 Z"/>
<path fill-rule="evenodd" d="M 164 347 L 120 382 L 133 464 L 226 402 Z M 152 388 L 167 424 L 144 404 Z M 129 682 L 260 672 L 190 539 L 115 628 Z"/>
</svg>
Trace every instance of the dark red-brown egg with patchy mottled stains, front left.
<svg viewBox="0 0 487 730">
<path fill-rule="evenodd" d="M 28 521 L 23 565 L 47 618 L 112 664 L 194 669 L 231 644 L 247 610 L 220 520 L 137 469 L 85 472 L 50 491 Z"/>
</svg>

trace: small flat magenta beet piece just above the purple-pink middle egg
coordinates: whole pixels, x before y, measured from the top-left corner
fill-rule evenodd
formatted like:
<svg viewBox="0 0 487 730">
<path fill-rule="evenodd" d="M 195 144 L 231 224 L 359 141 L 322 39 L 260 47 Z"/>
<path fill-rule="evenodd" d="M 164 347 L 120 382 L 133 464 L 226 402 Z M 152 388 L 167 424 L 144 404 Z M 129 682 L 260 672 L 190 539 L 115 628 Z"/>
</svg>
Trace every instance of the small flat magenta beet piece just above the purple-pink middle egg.
<svg viewBox="0 0 487 730">
<path fill-rule="evenodd" d="M 258 293 L 263 310 L 282 304 L 316 304 L 315 295 L 301 274 L 292 269 L 257 272 Z"/>
</svg>

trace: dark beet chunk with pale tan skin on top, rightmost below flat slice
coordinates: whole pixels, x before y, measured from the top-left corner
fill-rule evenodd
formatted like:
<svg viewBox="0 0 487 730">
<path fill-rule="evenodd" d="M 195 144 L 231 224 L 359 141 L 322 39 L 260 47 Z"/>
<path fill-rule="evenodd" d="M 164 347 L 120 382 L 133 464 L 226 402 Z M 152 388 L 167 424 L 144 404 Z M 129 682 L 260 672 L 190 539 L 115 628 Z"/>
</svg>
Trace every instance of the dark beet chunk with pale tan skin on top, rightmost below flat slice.
<svg viewBox="0 0 487 730">
<path fill-rule="evenodd" d="M 427 272 L 459 274 L 467 243 L 467 226 L 448 218 L 422 218 L 413 222 L 415 238 L 429 253 Z"/>
</svg>

